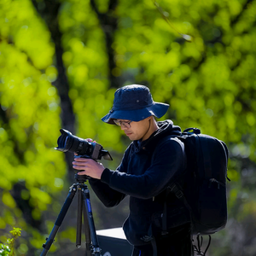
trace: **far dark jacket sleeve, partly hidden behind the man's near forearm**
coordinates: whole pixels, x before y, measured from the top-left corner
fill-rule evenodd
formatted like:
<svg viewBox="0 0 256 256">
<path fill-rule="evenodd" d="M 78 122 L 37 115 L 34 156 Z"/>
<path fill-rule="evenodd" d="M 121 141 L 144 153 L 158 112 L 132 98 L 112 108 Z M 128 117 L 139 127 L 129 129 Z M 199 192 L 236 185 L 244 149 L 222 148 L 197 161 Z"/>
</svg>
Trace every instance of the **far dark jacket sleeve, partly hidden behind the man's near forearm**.
<svg viewBox="0 0 256 256">
<path fill-rule="evenodd" d="M 126 149 L 125 154 L 123 156 L 123 159 L 121 161 L 121 164 L 117 168 L 116 171 L 112 172 L 126 172 L 126 158 L 127 158 L 127 152 L 129 151 L 129 148 Z M 109 172 L 109 169 L 106 168 L 104 172 Z M 104 173 L 103 172 L 103 173 Z M 102 201 L 105 207 L 115 207 L 119 204 L 120 201 L 122 201 L 126 194 L 124 191 L 118 191 L 116 189 L 111 188 L 108 183 L 102 182 L 102 180 L 90 178 L 89 183 L 93 191 L 95 192 L 96 196 Z"/>
</svg>

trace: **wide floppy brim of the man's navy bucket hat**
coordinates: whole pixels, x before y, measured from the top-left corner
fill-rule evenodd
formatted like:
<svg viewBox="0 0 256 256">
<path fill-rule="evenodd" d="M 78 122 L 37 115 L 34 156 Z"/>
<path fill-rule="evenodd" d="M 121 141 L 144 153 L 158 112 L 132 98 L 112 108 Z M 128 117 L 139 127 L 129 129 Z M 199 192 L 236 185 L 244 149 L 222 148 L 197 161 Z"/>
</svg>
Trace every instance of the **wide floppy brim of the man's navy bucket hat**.
<svg viewBox="0 0 256 256">
<path fill-rule="evenodd" d="M 125 119 L 139 122 L 143 119 L 154 115 L 160 119 L 168 110 L 169 105 L 166 103 L 153 102 L 150 107 L 136 110 L 110 110 L 108 114 L 102 117 L 102 121 L 110 125 L 115 125 L 113 119 Z"/>
</svg>

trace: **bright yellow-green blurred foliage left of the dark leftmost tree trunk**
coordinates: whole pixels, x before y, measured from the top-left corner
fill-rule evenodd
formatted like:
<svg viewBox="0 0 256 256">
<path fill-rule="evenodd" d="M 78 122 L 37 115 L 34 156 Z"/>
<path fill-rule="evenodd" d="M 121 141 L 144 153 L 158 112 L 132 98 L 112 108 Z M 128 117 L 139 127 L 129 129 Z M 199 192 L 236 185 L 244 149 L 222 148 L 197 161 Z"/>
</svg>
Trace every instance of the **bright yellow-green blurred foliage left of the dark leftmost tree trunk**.
<svg viewBox="0 0 256 256">
<path fill-rule="evenodd" d="M 59 96 L 51 84 L 55 50 L 30 1 L 0 5 L 0 234 L 9 225 L 31 232 L 20 203 L 26 201 L 32 218 L 41 219 L 52 203 L 49 193 L 61 191 L 66 172 L 63 156 L 53 149 L 61 126 Z M 19 201 L 15 183 L 26 184 Z M 29 246 L 28 239 L 21 241 Z"/>
</svg>

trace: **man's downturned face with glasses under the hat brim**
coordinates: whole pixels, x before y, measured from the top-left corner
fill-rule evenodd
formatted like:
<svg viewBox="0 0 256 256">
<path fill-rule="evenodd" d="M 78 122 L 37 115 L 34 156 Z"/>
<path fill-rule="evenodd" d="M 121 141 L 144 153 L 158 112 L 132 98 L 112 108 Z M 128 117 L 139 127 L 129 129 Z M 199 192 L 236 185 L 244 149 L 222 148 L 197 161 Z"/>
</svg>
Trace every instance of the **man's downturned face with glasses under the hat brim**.
<svg viewBox="0 0 256 256">
<path fill-rule="evenodd" d="M 147 119 L 143 119 L 139 122 L 134 122 L 132 121 L 130 124 L 130 120 L 126 119 L 117 119 L 120 123 L 120 127 L 123 131 L 125 131 L 125 134 L 127 137 L 130 138 L 131 141 L 136 141 L 136 140 L 144 140 L 147 137 L 148 129 L 150 126 L 149 122 L 150 117 Z M 128 123 L 129 125 L 126 125 Z"/>
</svg>

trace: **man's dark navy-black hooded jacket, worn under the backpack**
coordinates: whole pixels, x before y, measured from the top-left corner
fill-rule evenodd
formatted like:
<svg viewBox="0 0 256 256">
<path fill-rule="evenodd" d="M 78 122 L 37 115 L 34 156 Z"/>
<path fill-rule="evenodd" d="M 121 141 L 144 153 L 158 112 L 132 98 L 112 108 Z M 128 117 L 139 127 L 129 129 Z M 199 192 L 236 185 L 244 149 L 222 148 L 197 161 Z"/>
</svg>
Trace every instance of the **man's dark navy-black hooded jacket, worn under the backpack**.
<svg viewBox="0 0 256 256">
<path fill-rule="evenodd" d="M 132 142 L 125 150 L 116 171 L 105 169 L 101 180 L 90 179 L 90 185 L 106 207 L 114 207 L 130 195 L 130 214 L 123 229 L 131 244 L 145 244 L 143 237 L 154 216 L 163 211 L 165 189 L 185 168 L 183 143 L 170 137 L 181 134 L 171 120 L 158 122 L 159 130 L 142 143 Z M 175 195 L 168 200 L 168 227 L 187 221 L 183 204 Z M 184 214 L 183 214 L 184 213 Z M 185 217 L 183 217 L 183 215 Z"/>
</svg>

